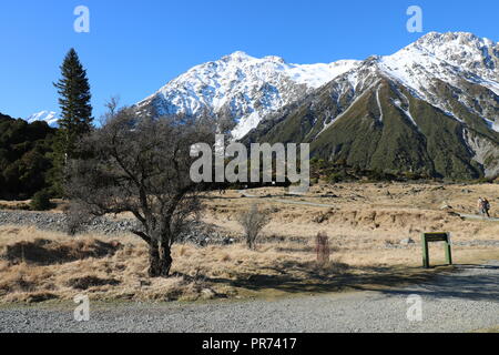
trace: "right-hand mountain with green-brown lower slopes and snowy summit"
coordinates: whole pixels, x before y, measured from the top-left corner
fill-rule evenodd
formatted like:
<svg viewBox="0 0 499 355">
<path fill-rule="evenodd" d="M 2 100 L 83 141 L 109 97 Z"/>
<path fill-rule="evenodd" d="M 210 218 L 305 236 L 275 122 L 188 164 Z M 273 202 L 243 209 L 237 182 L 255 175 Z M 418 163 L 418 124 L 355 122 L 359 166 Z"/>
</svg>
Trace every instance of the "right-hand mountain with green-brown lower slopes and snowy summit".
<svg viewBox="0 0 499 355">
<path fill-rule="evenodd" d="M 383 171 L 499 173 L 499 44 L 429 33 L 371 57 L 265 116 L 246 142 L 308 142 L 314 156 Z"/>
</svg>

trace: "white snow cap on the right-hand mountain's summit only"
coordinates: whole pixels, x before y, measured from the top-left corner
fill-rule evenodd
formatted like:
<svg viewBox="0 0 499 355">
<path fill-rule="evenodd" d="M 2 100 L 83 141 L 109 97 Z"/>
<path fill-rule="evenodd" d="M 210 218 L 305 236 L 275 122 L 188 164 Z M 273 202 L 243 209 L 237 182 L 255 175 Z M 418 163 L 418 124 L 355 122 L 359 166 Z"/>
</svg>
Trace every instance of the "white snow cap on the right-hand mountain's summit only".
<svg viewBox="0 0 499 355">
<path fill-rule="evenodd" d="M 465 32 L 431 32 L 393 55 L 378 58 L 378 68 L 420 99 L 461 121 L 437 90 L 439 82 L 448 84 L 460 102 L 499 132 L 499 44 L 491 40 Z M 477 98 L 477 92 L 470 90 L 472 84 L 490 92 Z M 493 110 L 489 110 L 491 106 Z"/>
</svg>

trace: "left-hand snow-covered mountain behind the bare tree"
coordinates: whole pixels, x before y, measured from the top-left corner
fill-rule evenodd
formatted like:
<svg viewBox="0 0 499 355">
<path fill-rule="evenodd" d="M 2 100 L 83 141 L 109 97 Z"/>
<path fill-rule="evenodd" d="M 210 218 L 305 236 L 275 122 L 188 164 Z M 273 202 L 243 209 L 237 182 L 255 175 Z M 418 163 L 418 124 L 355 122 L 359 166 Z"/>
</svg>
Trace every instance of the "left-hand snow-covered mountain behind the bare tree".
<svg viewBox="0 0 499 355">
<path fill-rule="evenodd" d="M 157 115 L 202 112 L 225 114 L 237 123 L 233 131 L 242 138 L 268 113 L 296 101 L 359 61 L 330 64 L 288 64 L 278 57 L 253 58 L 235 52 L 221 60 L 197 65 L 138 103 Z"/>
</svg>

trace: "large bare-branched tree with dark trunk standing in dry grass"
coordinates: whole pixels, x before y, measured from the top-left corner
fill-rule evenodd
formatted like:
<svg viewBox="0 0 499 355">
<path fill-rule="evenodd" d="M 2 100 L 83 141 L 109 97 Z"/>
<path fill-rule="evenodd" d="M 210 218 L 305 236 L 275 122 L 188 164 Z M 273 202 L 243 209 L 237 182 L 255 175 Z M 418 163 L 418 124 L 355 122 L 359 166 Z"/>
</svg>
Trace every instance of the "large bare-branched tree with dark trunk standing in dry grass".
<svg viewBox="0 0 499 355">
<path fill-rule="evenodd" d="M 110 106 L 112 112 L 115 105 Z M 190 179 L 191 145 L 214 144 L 213 122 L 204 119 L 138 119 L 118 110 L 85 138 L 84 159 L 69 164 L 69 221 L 75 232 L 93 217 L 131 212 L 131 231 L 149 245 L 151 277 L 169 276 L 171 248 L 202 209 L 206 186 Z"/>
</svg>

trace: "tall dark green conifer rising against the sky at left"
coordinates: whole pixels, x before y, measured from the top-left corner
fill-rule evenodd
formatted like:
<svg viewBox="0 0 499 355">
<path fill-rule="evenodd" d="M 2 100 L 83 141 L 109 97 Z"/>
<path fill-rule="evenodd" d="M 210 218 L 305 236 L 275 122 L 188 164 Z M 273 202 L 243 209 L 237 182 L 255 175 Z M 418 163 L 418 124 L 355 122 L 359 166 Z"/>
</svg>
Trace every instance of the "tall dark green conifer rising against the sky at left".
<svg viewBox="0 0 499 355">
<path fill-rule="evenodd" d="M 63 193 L 63 171 L 68 160 L 78 158 L 75 149 L 78 140 L 91 132 L 93 128 L 89 79 L 74 49 L 65 55 L 61 74 L 62 78 L 54 83 L 61 106 L 52 173 L 52 184 L 57 195 Z"/>
</svg>

